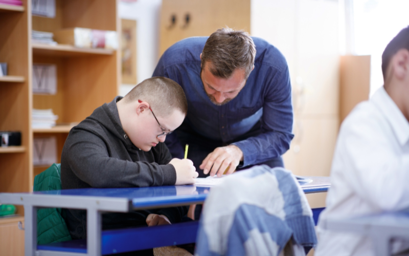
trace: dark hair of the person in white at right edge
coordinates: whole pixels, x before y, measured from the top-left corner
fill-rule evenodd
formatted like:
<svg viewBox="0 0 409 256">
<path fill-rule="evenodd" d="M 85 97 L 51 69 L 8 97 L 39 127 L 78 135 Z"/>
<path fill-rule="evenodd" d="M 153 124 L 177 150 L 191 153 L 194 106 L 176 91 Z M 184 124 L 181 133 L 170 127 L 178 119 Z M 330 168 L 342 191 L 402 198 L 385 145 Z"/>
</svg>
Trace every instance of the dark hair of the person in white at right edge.
<svg viewBox="0 0 409 256">
<path fill-rule="evenodd" d="M 387 45 L 382 53 L 382 74 L 383 81 L 387 79 L 387 71 L 389 62 L 393 55 L 395 55 L 400 49 L 406 49 L 409 51 L 409 26 L 402 29 Z"/>
</svg>

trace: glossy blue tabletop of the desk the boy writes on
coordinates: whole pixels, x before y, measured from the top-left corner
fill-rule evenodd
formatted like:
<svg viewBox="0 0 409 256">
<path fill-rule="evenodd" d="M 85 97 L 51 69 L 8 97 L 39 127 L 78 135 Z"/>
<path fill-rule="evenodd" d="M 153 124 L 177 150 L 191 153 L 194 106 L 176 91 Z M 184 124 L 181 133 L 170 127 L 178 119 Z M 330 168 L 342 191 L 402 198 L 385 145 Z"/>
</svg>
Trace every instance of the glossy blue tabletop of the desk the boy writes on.
<svg viewBox="0 0 409 256">
<path fill-rule="evenodd" d="M 305 177 L 311 182 L 299 181 L 306 194 L 325 192 L 330 187 L 329 177 Z M 37 191 L 31 193 L 0 193 L 0 203 L 24 204 L 28 200 L 34 202 L 36 206 L 48 207 L 54 201 L 54 207 L 83 208 L 80 206 L 81 200 L 86 204 L 86 200 L 98 201 L 98 205 L 105 202 L 105 207 L 109 208 L 109 203 L 126 202 L 128 210 L 159 208 L 178 205 L 189 205 L 202 203 L 205 201 L 211 187 L 196 187 L 194 185 L 184 186 L 158 186 L 158 187 L 132 187 L 132 188 L 82 188 Z M 23 200 L 27 198 L 26 200 Z M 47 200 L 44 200 L 47 199 Z M 84 201 L 85 200 L 85 201 Z M 47 202 L 46 202 L 47 201 Z M 70 201 L 67 205 L 67 201 Z M 76 204 L 77 202 L 77 204 Z M 65 206 L 59 206 L 65 205 Z"/>
</svg>

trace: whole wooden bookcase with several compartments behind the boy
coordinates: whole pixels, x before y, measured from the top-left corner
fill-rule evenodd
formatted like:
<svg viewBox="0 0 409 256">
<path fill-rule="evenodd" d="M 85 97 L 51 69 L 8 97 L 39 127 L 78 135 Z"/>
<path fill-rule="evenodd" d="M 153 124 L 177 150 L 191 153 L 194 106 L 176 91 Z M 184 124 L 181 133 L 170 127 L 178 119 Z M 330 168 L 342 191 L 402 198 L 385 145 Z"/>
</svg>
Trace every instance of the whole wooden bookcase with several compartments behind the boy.
<svg viewBox="0 0 409 256">
<path fill-rule="evenodd" d="M 81 27 L 119 34 L 119 0 L 56 0 L 54 18 L 33 16 L 28 11 L 33 0 L 21 1 L 21 7 L 0 5 L 0 62 L 8 63 L 11 75 L 0 77 L 0 131 L 21 132 L 21 146 L 0 147 L 0 193 L 32 191 L 34 176 L 49 167 L 33 166 L 34 138 L 55 136 L 56 162 L 61 161 L 62 148 L 72 125 L 33 129 L 33 108 L 53 109 L 60 123 L 78 123 L 98 106 L 115 98 L 121 83 L 121 56 L 117 50 L 50 46 L 31 41 L 32 30 L 54 32 Z M 56 95 L 33 94 L 33 63 L 57 66 Z M 5 84 L 10 82 L 14 84 Z M 24 209 L 17 206 L 17 214 L 24 215 Z M 0 239 L 0 254 L 24 255 L 24 246 L 21 246 L 24 231 L 10 226 L 23 218 L 0 221 L 0 237 L 8 239 Z M 9 221 L 12 223 L 6 223 Z"/>
</svg>

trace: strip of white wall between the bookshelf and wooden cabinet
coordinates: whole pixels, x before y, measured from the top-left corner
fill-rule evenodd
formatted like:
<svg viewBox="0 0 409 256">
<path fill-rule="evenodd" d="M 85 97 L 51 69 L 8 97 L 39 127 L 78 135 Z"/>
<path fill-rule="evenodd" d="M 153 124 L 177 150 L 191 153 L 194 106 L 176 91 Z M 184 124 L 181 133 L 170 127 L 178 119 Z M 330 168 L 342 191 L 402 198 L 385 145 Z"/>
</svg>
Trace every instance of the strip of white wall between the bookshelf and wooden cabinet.
<svg viewBox="0 0 409 256">
<path fill-rule="evenodd" d="M 152 76 L 159 59 L 159 21 L 162 0 L 119 2 L 119 17 L 137 20 L 137 83 Z M 136 84 L 122 84 L 120 95 L 127 94 Z"/>
</svg>

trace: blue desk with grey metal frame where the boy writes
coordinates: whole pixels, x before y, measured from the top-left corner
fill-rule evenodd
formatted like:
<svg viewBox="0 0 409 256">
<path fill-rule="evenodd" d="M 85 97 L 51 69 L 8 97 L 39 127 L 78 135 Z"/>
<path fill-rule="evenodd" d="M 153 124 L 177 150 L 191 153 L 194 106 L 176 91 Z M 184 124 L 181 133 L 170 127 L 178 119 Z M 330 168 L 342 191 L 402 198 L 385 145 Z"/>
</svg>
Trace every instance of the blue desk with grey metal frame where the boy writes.
<svg viewBox="0 0 409 256">
<path fill-rule="evenodd" d="M 306 177 L 310 183 L 300 182 L 304 193 L 322 193 L 330 186 L 329 177 Z M 25 255 L 68 256 L 101 255 L 144 248 L 191 243 L 196 240 L 198 222 L 178 223 L 149 228 L 101 230 L 104 212 L 128 212 L 203 203 L 209 187 L 161 186 L 142 188 L 88 188 L 40 191 L 34 193 L 2 193 L 0 203 L 24 205 Z M 87 210 L 87 239 L 37 246 L 37 209 L 41 207 Z M 157 234 L 161 233 L 161 239 Z M 148 235 L 156 239 L 147 240 Z M 138 236 L 144 243 L 129 243 Z M 146 242 L 150 241 L 150 242 Z"/>
</svg>

